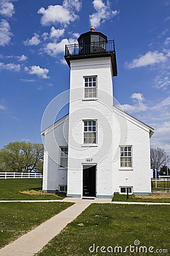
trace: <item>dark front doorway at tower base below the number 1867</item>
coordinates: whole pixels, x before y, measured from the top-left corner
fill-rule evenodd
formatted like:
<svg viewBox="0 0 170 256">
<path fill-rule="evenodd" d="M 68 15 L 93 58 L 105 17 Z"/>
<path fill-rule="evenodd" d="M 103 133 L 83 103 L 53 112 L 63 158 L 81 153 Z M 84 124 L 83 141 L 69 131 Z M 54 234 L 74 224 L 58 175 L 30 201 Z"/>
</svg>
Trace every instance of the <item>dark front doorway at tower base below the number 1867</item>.
<svg viewBox="0 0 170 256">
<path fill-rule="evenodd" d="M 96 166 L 83 167 L 83 196 L 96 196 Z"/>
</svg>

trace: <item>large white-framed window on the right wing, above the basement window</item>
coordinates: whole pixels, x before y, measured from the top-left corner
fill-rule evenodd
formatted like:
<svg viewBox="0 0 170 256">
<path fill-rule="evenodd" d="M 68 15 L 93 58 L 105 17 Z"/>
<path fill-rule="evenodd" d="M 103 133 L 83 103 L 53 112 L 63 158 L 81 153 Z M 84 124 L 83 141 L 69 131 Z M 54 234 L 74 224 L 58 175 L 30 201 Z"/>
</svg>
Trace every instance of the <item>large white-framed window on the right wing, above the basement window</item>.
<svg viewBox="0 0 170 256">
<path fill-rule="evenodd" d="M 132 148 L 131 146 L 125 146 L 125 147 L 120 147 L 121 150 L 121 167 L 132 167 L 132 161 L 131 161 L 131 156 L 132 156 Z"/>
</svg>

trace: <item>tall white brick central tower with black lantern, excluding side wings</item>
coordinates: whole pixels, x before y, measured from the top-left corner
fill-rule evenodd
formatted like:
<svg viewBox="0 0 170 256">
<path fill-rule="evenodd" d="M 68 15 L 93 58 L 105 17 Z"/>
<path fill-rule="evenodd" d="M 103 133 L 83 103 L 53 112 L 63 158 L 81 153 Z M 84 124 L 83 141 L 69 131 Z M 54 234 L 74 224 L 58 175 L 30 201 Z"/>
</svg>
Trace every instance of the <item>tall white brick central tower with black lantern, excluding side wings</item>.
<svg viewBox="0 0 170 256">
<path fill-rule="evenodd" d="M 70 67 L 67 196 L 112 197 L 114 41 L 91 28 L 66 46 Z"/>
</svg>

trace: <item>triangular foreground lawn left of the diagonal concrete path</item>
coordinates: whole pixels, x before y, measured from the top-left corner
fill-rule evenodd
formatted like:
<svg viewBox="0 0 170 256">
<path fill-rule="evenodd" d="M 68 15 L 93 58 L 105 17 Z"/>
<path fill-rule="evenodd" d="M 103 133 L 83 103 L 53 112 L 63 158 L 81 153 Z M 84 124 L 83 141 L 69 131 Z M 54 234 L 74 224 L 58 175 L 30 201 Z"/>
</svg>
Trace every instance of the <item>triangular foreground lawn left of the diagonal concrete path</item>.
<svg viewBox="0 0 170 256">
<path fill-rule="evenodd" d="M 72 203 L 0 203 L 0 247 L 14 241 Z"/>
</svg>

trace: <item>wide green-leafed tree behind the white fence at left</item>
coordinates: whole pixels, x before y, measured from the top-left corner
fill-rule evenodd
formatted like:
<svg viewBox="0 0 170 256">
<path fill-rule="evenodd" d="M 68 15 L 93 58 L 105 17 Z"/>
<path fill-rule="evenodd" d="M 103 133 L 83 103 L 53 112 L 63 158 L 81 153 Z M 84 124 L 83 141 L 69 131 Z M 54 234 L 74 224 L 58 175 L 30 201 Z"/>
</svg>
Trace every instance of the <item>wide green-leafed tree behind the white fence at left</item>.
<svg viewBox="0 0 170 256">
<path fill-rule="evenodd" d="M 41 143 L 11 142 L 0 151 L 0 171 L 42 173 L 43 156 Z"/>
</svg>

